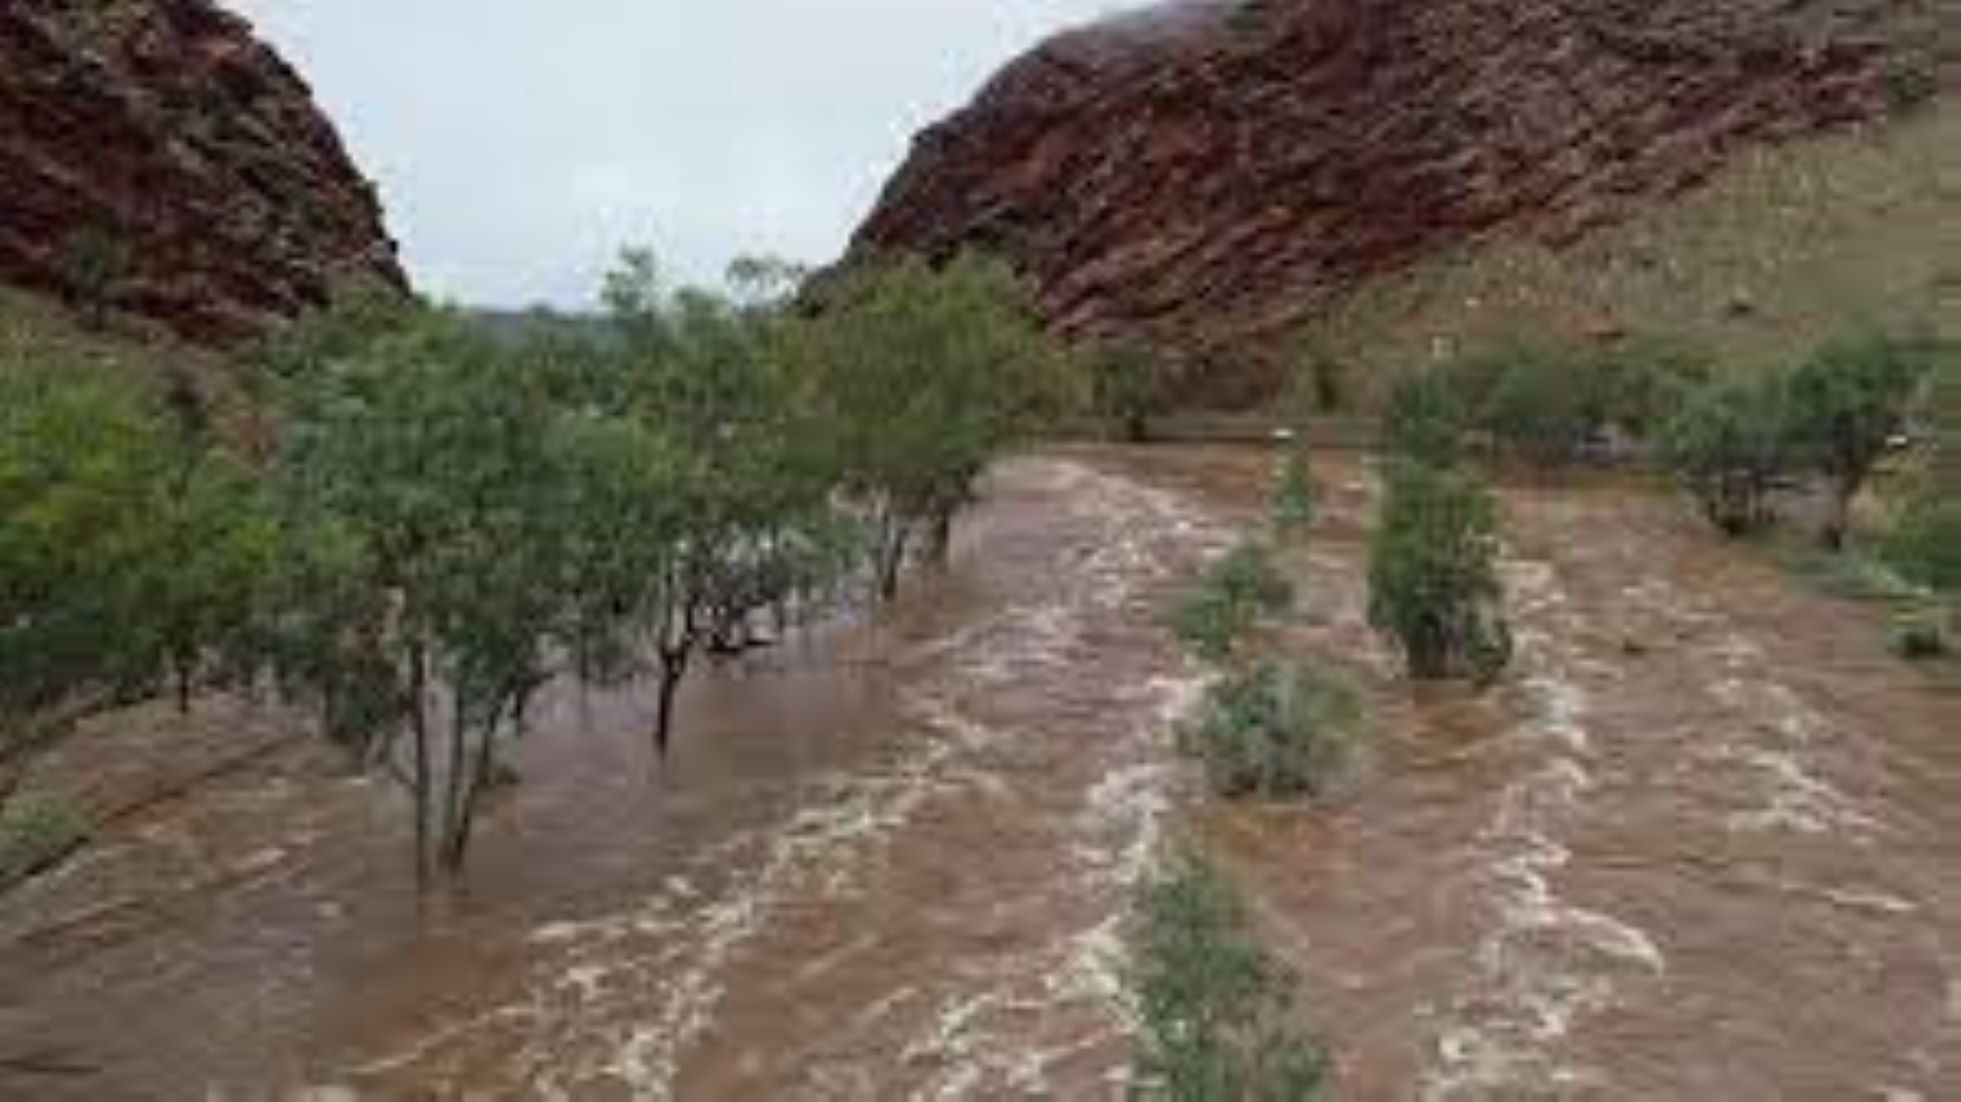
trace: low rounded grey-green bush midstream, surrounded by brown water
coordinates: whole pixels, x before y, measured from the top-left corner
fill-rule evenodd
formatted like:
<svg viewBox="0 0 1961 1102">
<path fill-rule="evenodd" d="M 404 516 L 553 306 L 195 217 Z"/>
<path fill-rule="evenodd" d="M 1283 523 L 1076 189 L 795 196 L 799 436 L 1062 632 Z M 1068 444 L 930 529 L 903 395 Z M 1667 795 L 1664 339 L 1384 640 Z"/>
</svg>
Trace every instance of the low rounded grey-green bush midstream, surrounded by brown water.
<svg viewBox="0 0 1961 1102">
<path fill-rule="evenodd" d="M 1349 759 L 1359 718 L 1349 684 L 1263 663 L 1212 686 L 1186 741 L 1218 794 L 1286 800 L 1328 788 Z"/>
</svg>

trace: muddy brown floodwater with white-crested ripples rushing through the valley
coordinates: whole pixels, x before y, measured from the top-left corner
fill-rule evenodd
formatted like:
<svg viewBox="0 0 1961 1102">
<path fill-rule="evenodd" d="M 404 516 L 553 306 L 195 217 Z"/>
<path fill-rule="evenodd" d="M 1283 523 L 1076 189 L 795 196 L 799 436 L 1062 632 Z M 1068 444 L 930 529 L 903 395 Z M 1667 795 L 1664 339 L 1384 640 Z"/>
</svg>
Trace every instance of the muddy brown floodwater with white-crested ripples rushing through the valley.
<svg viewBox="0 0 1961 1102">
<path fill-rule="evenodd" d="M 386 784 L 237 704 L 118 718 L 43 782 L 137 810 L 0 900 L 0 1098 L 1108 1098 L 1173 837 L 1343 1098 L 1961 1096 L 1961 710 L 1871 614 L 1663 496 L 1518 484 L 1514 676 L 1412 694 L 1363 624 L 1375 480 L 1328 457 L 1288 639 L 1371 749 L 1320 806 L 1208 806 L 1157 612 L 1269 463 L 1014 461 L 943 580 L 710 671 L 661 767 L 633 698 L 551 700 L 426 904 Z"/>
</svg>

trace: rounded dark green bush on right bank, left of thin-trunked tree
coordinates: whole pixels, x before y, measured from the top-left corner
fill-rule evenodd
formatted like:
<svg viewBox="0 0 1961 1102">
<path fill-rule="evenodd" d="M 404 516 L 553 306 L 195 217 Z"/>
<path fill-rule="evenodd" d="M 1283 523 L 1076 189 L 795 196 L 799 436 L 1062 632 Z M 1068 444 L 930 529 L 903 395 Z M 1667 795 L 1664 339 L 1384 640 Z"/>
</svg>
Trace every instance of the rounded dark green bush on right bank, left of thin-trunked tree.
<svg viewBox="0 0 1961 1102">
<path fill-rule="evenodd" d="M 1783 408 L 1781 380 L 1720 382 L 1661 427 L 1661 461 L 1728 535 L 1775 520 L 1771 494 L 1792 469 Z"/>
</svg>

